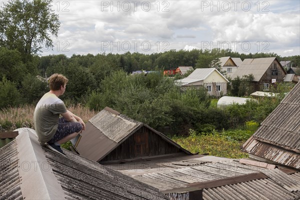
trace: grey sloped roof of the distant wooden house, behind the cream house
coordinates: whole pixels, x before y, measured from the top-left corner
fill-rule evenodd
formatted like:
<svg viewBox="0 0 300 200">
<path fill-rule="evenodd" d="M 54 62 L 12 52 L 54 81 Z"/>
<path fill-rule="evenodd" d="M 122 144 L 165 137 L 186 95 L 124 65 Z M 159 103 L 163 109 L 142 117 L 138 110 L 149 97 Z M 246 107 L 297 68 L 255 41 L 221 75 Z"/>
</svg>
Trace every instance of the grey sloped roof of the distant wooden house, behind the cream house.
<svg viewBox="0 0 300 200">
<path fill-rule="evenodd" d="M 242 61 L 234 74 L 232 74 L 232 78 L 253 74 L 254 81 L 259 81 L 266 69 L 275 59 L 276 57 L 246 58 Z"/>
</svg>

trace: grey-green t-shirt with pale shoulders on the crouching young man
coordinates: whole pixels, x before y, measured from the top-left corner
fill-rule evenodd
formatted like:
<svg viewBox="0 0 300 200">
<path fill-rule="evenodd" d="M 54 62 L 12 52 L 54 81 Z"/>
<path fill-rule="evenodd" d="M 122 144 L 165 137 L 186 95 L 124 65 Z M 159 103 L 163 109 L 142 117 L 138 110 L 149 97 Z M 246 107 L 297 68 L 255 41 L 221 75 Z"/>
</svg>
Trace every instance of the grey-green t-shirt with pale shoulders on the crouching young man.
<svg viewBox="0 0 300 200">
<path fill-rule="evenodd" d="M 33 123 L 41 143 L 49 141 L 55 134 L 60 113 L 66 112 L 63 101 L 55 94 L 45 93 L 34 109 Z"/>
</svg>

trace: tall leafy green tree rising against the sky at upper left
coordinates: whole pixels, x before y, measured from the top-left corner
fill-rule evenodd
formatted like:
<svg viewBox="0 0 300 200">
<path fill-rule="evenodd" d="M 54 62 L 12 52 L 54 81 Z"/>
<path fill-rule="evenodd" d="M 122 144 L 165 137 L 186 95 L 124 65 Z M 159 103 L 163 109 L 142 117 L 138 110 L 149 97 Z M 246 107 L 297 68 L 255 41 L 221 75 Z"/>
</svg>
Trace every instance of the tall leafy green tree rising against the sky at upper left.
<svg viewBox="0 0 300 200">
<path fill-rule="evenodd" d="M 52 0 L 9 0 L 0 10 L 0 46 L 36 54 L 43 47 L 53 47 L 57 37 L 58 15 L 51 9 Z"/>
</svg>

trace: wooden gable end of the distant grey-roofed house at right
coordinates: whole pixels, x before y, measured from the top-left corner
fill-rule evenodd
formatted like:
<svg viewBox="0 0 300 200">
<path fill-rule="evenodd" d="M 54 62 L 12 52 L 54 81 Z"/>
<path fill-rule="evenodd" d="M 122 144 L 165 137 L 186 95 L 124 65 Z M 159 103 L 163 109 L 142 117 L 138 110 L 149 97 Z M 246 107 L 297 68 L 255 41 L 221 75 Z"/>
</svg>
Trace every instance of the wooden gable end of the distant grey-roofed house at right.
<svg viewBox="0 0 300 200">
<path fill-rule="evenodd" d="M 276 82 L 282 82 L 285 74 L 286 73 L 281 67 L 280 63 L 277 61 L 277 59 L 274 59 L 274 61 L 266 69 L 265 73 L 261 76 L 259 82 L 272 83 L 272 79 L 274 79 Z"/>
</svg>

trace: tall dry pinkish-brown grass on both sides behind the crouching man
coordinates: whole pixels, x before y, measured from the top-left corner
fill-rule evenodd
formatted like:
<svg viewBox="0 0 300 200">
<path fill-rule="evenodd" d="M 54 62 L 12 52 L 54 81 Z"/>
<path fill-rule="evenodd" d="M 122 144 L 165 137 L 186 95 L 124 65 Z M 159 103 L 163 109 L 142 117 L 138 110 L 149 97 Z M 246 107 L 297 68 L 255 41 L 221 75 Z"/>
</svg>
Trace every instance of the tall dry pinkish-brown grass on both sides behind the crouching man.
<svg viewBox="0 0 300 200">
<path fill-rule="evenodd" d="M 35 105 L 21 105 L 0 109 L 0 131 L 11 131 L 20 127 L 33 127 Z M 80 116 L 84 122 L 96 114 L 81 104 L 67 106 L 67 109 Z"/>
</svg>

